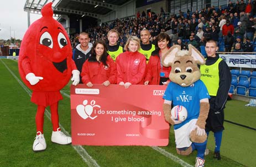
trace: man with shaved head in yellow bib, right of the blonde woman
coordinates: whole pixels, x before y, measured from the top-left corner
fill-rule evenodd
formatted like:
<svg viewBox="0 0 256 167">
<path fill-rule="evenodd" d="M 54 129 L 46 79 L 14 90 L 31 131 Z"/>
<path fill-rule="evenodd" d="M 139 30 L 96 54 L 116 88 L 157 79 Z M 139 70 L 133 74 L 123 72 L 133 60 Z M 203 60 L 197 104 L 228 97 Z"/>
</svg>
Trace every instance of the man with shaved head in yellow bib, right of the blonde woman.
<svg viewBox="0 0 256 167">
<path fill-rule="evenodd" d="M 139 52 L 146 57 L 147 63 L 149 61 L 151 53 L 155 50 L 155 45 L 151 44 L 149 41 L 150 37 L 151 35 L 149 30 L 143 29 L 142 31 L 140 31 L 140 39 L 142 40 L 142 44 L 140 44 Z"/>
</svg>

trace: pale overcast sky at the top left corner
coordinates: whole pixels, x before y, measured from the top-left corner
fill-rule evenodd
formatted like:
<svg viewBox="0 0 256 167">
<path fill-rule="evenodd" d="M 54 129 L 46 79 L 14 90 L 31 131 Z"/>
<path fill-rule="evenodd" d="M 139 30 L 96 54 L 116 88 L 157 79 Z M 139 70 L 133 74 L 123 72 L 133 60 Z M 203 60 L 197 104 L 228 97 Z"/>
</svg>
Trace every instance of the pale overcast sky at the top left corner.
<svg viewBox="0 0 256 167">
<path fill-rule="evenodd" d="M 28 29 L 28 13 L 23 9 L 25 2 L 26 0 L 0 0 L 0 39 L 8 40 L 15 34 L 15 39 L 22 40 Z M 30 13 L 30 24 L 39 18 L 40 14 Z"/>
</svg>

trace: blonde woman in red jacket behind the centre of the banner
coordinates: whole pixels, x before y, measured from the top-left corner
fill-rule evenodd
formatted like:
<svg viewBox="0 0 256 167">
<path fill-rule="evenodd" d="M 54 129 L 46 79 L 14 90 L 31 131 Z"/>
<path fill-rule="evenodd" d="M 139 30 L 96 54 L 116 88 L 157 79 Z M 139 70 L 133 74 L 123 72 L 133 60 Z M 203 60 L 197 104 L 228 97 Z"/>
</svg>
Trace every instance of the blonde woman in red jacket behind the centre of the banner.
<svg viewBox="0 0 256 167">
<path fill-rule="evenodd" d="M 146 58 L 139 53 L 140 41 L 137 36 L 130 36 L 124 50 L 117 59 L 117 84 L 129 88 L 131 84 L 143 84 Z"/>
</svg>

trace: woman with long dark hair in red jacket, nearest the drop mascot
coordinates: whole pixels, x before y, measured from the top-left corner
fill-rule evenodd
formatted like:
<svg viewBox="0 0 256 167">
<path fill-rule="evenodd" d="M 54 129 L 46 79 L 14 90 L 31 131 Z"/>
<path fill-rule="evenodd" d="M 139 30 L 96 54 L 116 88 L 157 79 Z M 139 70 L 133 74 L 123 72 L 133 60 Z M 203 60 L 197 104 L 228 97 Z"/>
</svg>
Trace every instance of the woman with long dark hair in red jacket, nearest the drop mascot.
<svg viewBox="0 0 256 167">
<path fill-rule="evenodd" d="M 91 57 L 83 63 L 82 82 L 87 87 L 92 87 L 93 84 L 103 84 L 107 87 L 116 83 L 116 74 L 116 64 L 107 53 L 105 41 L 96 41 L 93 44 Z"/>
</svg>

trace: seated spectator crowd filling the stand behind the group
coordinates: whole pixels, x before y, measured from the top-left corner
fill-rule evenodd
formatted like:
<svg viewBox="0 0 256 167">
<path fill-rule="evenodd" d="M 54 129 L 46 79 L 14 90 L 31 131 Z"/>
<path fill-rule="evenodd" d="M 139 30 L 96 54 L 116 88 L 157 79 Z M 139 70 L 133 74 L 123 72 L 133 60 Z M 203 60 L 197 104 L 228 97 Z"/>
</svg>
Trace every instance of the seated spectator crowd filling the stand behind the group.
<svg viewBox="0 0 256 167">
<path fill-rule="evenodd" d="M 230 52 L 252 52 L 254 50 L 254 32 L 256 29 L 256 0 L 244 3 L 243 0 L 231 1 L 228 6 L 208 7 L 194 12 L 171 15 L 164 14 L 140 15 L 135 18 L 116 19 L 112 23 L 102 23 L 96 27 L 86 30 L 90 34 L 91 42 L 96 40 L 107 40 L 107 33 L 111 29 L 119 32 L 118 44 L 124 46 L 130 35 L 140 38 L 140 31 L 148 29 L 150 31 L 150 42 L 155 44 L 156 36 L 168 31 L 171 42 L 169 46 L 178 44 L 194 45 L 200 50 L 201 45 L 205 45 L 207 39 L 219 42 L 225 47 L 225 51 Z M 79 34 L 71 36 L 72 46 L 79 44 Z M 246 39 L 246 40 L 245 40 Z M 241 46 L 236 45 L 239 43 Z"/>
</svg>

